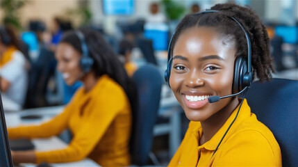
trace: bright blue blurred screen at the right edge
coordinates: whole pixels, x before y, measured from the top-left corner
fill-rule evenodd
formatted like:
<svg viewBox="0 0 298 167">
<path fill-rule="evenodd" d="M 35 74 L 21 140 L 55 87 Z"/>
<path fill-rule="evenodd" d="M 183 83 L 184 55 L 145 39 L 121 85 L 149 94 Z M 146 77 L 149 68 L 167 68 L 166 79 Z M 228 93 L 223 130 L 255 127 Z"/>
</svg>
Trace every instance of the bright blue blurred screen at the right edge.
<svg viewBox="0 0 298 167">
<path fill-rule="evenodd" d="M 298 26 L 276 26 L 275 33 L 281 36 L 285 43 L 298 43 Z"/>
</svg>

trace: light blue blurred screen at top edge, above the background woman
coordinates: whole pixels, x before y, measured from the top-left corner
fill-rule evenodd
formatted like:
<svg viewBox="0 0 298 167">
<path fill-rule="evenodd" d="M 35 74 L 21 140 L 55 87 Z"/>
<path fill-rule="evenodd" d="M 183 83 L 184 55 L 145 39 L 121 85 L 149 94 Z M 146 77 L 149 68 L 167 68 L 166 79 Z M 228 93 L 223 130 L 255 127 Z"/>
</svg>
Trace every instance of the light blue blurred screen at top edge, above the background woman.
<svg viewBox="0 0 298 167">
<path fill-rule="evenodd" d="M 134 0 L 103 0 L 105 15 L 133 15 Z"/>
</svg>

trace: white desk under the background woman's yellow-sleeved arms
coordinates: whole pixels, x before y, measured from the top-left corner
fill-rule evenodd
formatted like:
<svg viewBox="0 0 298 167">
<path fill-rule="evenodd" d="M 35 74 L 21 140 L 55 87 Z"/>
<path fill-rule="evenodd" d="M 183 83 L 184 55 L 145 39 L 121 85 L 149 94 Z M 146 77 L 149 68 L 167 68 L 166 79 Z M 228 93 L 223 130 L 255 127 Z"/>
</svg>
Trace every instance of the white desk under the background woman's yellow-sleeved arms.
<svg viewBox="0 0 298 167">
<path fill-rule="evenodd" d="M 45 120 L 49 120 L 53 116 L 56 116 L 58 113 L 63 111 L 64 106 L 51 106 L 44 107 L 39 109 L 28 109 L 24 111 L 17 112 L 9 112 L 5 113 L 6 125 L 7 127 L 17 127 L 19 125 L 26 124 L 40 124 Z M 42 118 L 36 120 L 22 120 L 21 116 L 28 116 L 30 114 L 40 115 Z M 49 150 L 58 150 L 67 147 L 67 144 L 64 143 L 57 136 L 53 136 L 51 138 L 35 138 L 33 139 L 33 144 L 35 145 L 35 150 L 38 151 L 49 151 Z M 33 167 L 35 164 L 21 164 L 21 166 L 25 167 Z M 82 161 L 75 161 L 69 163 L 59 163 L 52 164 L 52 166 L 99 166 L 97 163 L 92 161 L 91 159 L 83 159 Z"/>
</svg>

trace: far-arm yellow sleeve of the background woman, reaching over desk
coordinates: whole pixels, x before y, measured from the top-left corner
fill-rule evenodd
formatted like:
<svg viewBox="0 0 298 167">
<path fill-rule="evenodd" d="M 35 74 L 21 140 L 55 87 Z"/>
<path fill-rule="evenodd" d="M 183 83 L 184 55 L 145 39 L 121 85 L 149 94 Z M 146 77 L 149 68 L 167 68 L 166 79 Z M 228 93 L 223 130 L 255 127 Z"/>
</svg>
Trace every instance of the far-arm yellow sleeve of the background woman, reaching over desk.
<svg viewBox="0 0 298 167">
<path fill-rule="evenodd" d="M 63 113 L 41 125 L 27 125 L 8 128 L 9 138 L 48 138 L 63 132 L 67 128 L 71 106 L 66 106 Z"/>
</svg>

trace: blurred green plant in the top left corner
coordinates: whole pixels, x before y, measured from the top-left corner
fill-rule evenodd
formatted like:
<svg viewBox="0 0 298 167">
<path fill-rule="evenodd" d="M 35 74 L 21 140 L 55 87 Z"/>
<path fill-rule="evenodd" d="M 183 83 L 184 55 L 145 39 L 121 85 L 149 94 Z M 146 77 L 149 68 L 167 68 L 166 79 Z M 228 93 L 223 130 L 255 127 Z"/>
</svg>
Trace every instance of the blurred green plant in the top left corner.
<svg viewBox="0 0 298 167">
<path fill-rule="evenodd" d="M 19 10 L 26 3 L 27 0 L 0 0 L 0 8 L 3 10 L 1 24 L 10 24 L 17 29 L 22 29 Z"/>
</svg>

